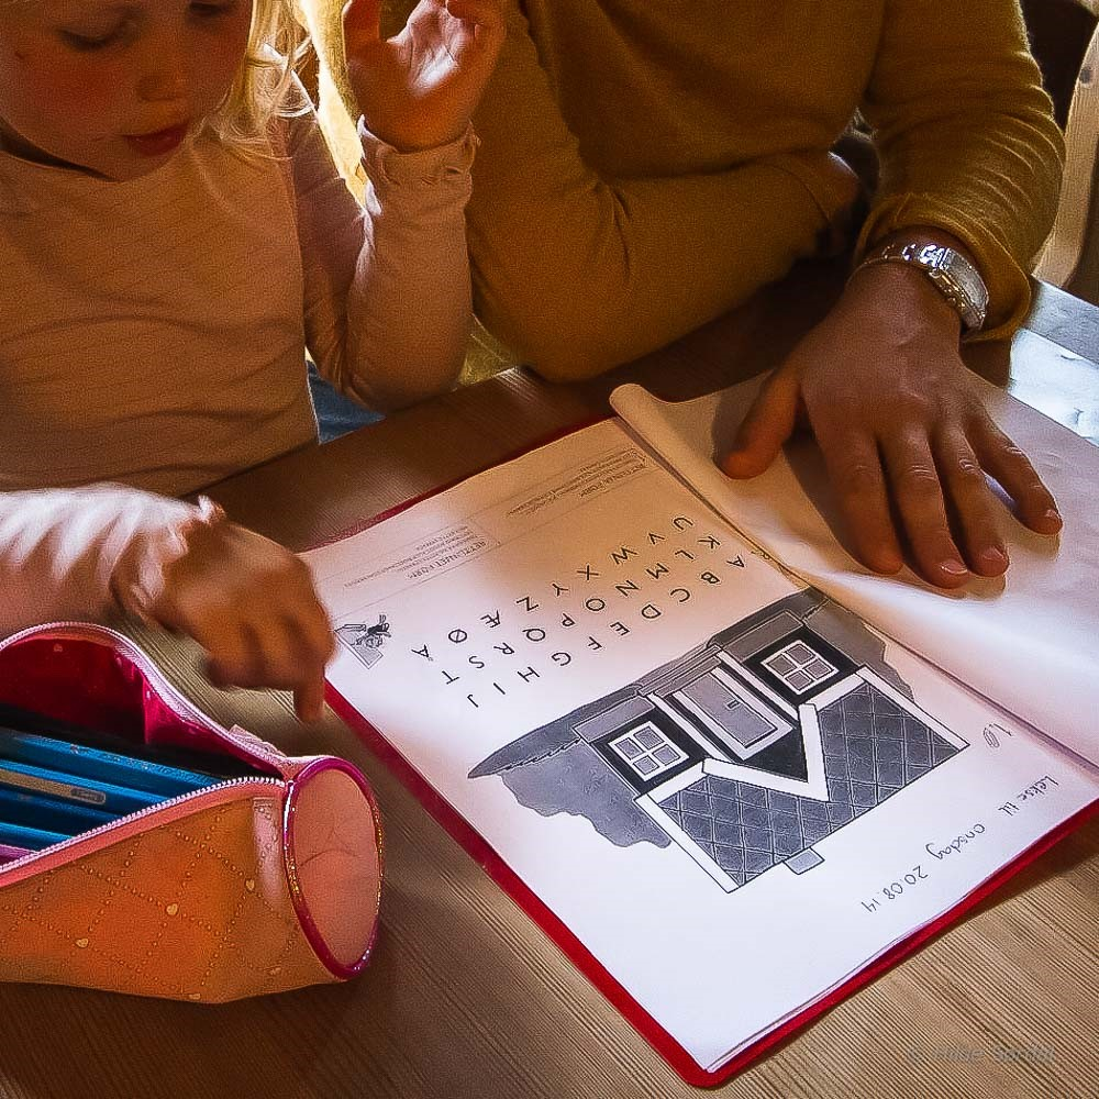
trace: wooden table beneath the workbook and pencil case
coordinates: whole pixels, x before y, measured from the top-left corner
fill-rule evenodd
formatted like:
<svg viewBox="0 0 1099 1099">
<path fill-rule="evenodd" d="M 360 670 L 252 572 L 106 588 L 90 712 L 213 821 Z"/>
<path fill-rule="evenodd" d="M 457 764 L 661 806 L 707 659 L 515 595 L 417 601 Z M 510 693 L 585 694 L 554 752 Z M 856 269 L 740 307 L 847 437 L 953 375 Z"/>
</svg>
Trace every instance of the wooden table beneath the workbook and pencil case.
<svg viewBox="0 0 1099 1099">
<path fill-rule="evenodd" d="M 834 273 L 833 273 L 834 274 Z M 603 414 L 621 380 L 686 398 L 774 365 L 834 278 L 784 286 L 614 376 L 552 387 L 525 371 L 392 415 L 217 487 L 230 514 L 295 548 Z M 780 333 L 781 335 L 776 335 Z M 978 353 L 1007 376 L 1004 347 Z M 1042 288 L 1011 386 L 1099 436 L 1099 310 Z M 336 718 L 220 693 L 186 645 L 143 636 L 222 720 L 370 776 L 387 835 L 375 957 L 357 980 L 217 1008 L 0 988 L 0 1096 L 66 1099 L 674 1099 L 697 1095 Z M 914 956 L 786 1041 L 729 1096 L 1085 1096 L 1099 1090 L 1099 822 Z M 735 993 L 733 993 L 735 995 Z"/>
</svg>

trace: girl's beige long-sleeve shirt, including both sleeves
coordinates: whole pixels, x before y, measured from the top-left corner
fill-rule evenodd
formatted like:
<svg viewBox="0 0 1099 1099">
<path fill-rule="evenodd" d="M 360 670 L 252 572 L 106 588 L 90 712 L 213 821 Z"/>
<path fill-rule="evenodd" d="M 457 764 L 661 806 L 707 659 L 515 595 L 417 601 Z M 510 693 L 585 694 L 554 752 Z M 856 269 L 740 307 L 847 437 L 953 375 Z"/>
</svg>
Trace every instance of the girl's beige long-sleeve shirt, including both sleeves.
<svg viewBox="0 0 1099 1099">
<path fill-rule="evenodd" d="M 362 138 L 365 210 L 312 114 L 275 156 L 199 136 L 122 184 L 0 151 L 0 632 L 111 609 L 116 564 L 199 519 L 160 493 L 313 441 L 307 346 L 366 403 L 453 381 L 475 138 Z"/>
</svg>

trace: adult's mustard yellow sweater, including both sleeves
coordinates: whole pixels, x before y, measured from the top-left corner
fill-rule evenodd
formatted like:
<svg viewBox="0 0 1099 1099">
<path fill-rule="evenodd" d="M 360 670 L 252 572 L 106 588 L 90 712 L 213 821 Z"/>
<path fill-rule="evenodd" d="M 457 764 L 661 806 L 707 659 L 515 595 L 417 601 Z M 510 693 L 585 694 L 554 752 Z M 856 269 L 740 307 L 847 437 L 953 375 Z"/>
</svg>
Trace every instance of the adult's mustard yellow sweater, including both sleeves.
<svg viewBox="0 0 1099 1099">
<path fill-rule="evenodd" d="M 391 0 L 389 30 L 412 7 Z M 660 346 L 780 277 L 844 200 L 856 109 L 882 177 L 862 245 L 962 238 L 987 334 L 1029 303 L 1063 145 L 1017 0 L 508 0 L 475 116 L 476 308 L 553 378 Z"/>
</svg>

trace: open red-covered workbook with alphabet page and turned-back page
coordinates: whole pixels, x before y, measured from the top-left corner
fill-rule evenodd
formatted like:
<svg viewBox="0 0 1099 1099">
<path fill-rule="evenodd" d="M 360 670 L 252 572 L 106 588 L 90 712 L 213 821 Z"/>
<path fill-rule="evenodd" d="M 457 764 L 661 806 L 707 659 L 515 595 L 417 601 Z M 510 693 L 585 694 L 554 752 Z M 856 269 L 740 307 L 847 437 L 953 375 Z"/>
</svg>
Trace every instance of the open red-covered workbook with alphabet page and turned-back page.
<svg viewBox="0 0 1099 1099">
<path fill-rule="evenodd" d="M 1015 524 L 1007 578 L 945 595 L 861 569 L 796 446 L 713 466 L 752 391 L 623 387 L 306 555 L 340 712 L 696 1084 L 1099 798 L 1099 451 L 989 387 L 1066 526 Z"/>
</svg>

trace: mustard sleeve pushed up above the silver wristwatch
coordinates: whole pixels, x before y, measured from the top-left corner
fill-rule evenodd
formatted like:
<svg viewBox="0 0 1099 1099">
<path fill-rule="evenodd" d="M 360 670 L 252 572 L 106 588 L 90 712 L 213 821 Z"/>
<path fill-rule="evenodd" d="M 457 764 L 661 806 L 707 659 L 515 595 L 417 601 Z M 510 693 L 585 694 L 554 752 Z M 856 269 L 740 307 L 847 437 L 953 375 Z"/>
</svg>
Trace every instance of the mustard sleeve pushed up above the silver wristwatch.
<svg viewBox="0 0 1099 1099">
<path fill-rule="evenodd" d="M 888 0 L 863 111 L 881 181 L 859 252 L 907 226 L 947 230 L 988 285 L 983 337 L 1009 334 L 1064 162 L 1017 0 Z"/>
</svg>

